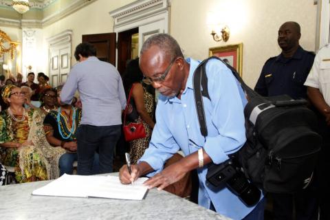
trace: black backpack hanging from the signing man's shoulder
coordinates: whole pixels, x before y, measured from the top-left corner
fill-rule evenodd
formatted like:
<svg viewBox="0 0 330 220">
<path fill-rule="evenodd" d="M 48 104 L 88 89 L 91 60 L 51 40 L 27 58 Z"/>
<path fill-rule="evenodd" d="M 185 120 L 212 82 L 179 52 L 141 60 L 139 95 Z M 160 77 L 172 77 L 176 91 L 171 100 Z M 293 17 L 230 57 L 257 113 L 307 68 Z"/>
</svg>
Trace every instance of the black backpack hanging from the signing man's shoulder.
<svg viewBox="0 0 330 220">
<path fill-rule="evenodd" d="M 208 94 L 206 63 L 194 72 L 195 102 L 201 134 L 208 134 L 204 120 L 202 96 Z M 289 96 L 263 97 L 246 85 L 236 70 L 226 65 L 241 83 L 248 96 L 244 109 L 247 141 L 236 153 L 248 179 L 266 192 L 295 192 L 306 188 L 314 174 L 321 137 L 316 133 L 316 115 L 306 107 L 306 100 Z M 201 90 L 202 88 L 202 90 Z"/>
</svg>

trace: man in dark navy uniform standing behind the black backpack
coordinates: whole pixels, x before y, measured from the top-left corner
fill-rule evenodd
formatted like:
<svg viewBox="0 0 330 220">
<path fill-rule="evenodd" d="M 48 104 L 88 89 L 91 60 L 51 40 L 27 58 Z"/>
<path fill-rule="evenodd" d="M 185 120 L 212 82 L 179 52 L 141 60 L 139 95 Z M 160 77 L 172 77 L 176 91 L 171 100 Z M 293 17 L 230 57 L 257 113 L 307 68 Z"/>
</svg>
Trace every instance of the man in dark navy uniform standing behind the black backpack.
<svg viewBox="0 0 330 220">
<path fill-rule="evenodd" d="M 254 90 L 261 96 L 288 95 L 294 99 L 307 98 L 304 86 L 314 62 L 314 52 L 299 45 L 300 25 L 294 21 L 283 23 L 278 30 L 278 45 L 282 53 L 269 58 Z M 294 195 L 272 193 L 274 219 L 292 219 L 295 204 L 296 219 L 317 219 L 318 206 L 313 186 Z M 293 201 L 294 200 L 294 201 Z"/>
</svg>

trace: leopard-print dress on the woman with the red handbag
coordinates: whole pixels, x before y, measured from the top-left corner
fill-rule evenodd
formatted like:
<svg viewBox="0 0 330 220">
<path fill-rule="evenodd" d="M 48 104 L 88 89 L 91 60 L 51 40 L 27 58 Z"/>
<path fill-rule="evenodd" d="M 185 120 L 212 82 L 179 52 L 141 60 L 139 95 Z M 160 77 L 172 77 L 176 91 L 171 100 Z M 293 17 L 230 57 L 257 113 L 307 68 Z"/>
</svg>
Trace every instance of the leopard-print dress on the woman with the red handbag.
<svg viewBox="0 0 330 220">
<path fill-rule="evenodd" d="M 148 115 L 153 118 L 153 111 L 155 111 L 154 106 L 154 96 L 148 91 L 146 91 L 146 88 L 143 87 L 143 98 L 144 98 L 144 107 L 146 108 L 146 111 L 148 112 Z M 142 120 L 141 116 L 139 116 L 138 121 L 142 121 L 142 124 L 144 126 L 144 130 L 146 131 L 146 137 L 140 138 L 137 140 L 132 140 L 130 142 L 131 144 L 131 163 L 137 164 L 137 161 L 142 157 L 144 151 L 146 151 L 146 148 L 149 146 L 150 138 L 151 138 L 151 127 Z"/>
</svg>

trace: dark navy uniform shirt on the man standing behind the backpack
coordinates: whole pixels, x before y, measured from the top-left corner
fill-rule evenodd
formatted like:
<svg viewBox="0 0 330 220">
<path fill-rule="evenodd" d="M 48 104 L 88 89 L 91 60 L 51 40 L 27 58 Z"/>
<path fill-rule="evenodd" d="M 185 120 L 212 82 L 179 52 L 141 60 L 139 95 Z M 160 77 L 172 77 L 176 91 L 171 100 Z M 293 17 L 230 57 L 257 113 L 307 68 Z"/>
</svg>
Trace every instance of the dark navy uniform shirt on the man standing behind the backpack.
<svg viewBox="0 0 330 220">
<path fill-rule="evenodd" d="M 294 99 L 307 98 L 305 80 L 314 63 L 314 52 L 298 47 L 294 56 L 283 54 L 269 58 L 254 90 L 261 96 L 289 95 Z"/>
</svg>

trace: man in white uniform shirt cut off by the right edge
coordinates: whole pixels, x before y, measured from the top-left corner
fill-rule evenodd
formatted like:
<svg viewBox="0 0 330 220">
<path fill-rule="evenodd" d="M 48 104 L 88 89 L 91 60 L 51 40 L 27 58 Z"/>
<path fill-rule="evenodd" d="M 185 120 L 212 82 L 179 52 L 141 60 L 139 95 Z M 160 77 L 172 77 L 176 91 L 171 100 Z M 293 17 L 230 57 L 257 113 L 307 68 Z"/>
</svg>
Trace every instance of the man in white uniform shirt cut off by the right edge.
<svg viewBox="0 0 330 220">
<path fill-rule="evenodd" d="M 307 95 L 316 108 L 319 119 L 322 148 L 318 160 L 318 196 L 320 197 L 320 219 L 330 219 L 330 45 L 322 47 L 316 54 L 313 67 L 305 84 Z"/>
</svg>

